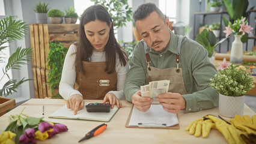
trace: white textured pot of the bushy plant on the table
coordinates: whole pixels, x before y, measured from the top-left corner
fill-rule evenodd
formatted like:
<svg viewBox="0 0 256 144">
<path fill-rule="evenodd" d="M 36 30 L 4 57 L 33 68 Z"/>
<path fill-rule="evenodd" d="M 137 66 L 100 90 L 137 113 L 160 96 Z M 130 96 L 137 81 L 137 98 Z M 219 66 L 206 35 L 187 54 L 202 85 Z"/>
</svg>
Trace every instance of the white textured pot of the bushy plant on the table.
<svg viewBox="0 0 256 144">
<path fill-rule="evenodd" d="M 242 116 L 245 106 L 244 97 L 231 97 L 219 94 L 219 114 L 228 118 L 234 118 L 235 115 Z"/>
</svg>

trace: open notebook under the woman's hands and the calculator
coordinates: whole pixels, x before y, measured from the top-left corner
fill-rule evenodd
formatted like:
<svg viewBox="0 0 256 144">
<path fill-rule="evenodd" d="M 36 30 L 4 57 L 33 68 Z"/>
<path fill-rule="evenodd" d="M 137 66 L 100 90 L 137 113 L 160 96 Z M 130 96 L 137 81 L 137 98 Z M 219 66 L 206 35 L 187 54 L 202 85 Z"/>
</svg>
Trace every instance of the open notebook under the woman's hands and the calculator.
<svg viewBox="0 0 256 144">
<path fill-rule="evenodd" d="M 85 103 L 85 106 L 89 103 Z M 48 118 L 59 118 L 59 119 L 78 119 L 78 120 L 87 120 L 87 121 L 102 121 L 109 122 L 117 113 L 119 108 L 114 106 L 110 112 L 87 112 L 84 107 L 82 110 L 78 110 L 78 114 L 74 115 L 74 110 L 67 109 L 67 105 L 62 106 L 60 109 L 53 112 Z"/>
</svg>

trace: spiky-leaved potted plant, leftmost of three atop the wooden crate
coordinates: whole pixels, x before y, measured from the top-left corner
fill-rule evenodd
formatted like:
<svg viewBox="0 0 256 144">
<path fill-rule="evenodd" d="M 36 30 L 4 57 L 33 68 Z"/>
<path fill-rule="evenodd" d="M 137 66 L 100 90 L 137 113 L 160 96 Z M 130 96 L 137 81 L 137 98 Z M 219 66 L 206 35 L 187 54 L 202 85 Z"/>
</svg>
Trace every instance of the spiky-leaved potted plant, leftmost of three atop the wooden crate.
<svg viewBox="0 0 256 144">
<path fill-rule="evenodd" d="M 37 20 L 37 23 L 47 23 L 47 12 L 49 11 L 49 4 L 46 4 L 45 2 L 37 3 L 35 4 L 35 19 Z"/>
</svg>

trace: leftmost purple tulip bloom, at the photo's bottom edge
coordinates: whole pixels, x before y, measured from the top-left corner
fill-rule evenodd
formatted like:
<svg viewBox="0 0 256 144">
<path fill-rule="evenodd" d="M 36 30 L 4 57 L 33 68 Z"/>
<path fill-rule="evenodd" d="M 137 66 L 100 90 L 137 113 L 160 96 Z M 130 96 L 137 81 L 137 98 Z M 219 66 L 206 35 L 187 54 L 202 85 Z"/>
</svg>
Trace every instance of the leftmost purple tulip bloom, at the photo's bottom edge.
<svg viewBox="0 0 256 144">
<path fill-rule="evenodd" d="M 33 128 L 27 128 L 25 134 L 19 137 L 19 142 L 25 144 L 37 143 L 37 141 L 35 141 L 35 130 Z"/>
</svg>

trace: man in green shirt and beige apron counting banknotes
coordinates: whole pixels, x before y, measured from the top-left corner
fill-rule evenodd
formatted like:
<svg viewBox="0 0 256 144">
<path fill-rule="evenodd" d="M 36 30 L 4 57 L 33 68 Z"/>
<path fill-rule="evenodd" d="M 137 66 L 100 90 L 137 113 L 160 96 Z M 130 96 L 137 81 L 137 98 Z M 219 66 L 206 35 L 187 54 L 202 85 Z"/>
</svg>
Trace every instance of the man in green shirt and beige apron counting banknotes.
<svg viewBox="0 0 256 144">
<path fill-rule="evenodd" d="M 124 85 L 126 100 L 146 112 L 153 99 L 141 97 L 140 86 L 170 80 L 168 93 L 156 98 L 167 112 L 197 112 L 218 106 L 218 92 L 209 87 L 217 70 L 210 63 L 207 50 L 194 40 L 175 35 L 169 29 L 169 20 L 155 4 L 140 5 L 133 19 L 143 40 L 133 51 Z"/>
</svg>

